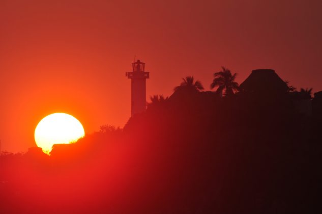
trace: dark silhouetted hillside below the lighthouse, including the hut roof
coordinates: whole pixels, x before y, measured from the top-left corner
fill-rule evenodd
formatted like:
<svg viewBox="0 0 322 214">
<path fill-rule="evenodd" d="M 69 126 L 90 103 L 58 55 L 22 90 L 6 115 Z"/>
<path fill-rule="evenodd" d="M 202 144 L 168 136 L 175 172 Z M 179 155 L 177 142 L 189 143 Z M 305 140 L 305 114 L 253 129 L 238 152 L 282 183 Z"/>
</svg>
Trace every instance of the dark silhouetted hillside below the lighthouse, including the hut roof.
<svg viewBox="0 0 322 214">
<path fill-rule="evenodd" d="M 123 129 L 103 125 L 50 156 L 1 155 L 1 210 L 320 213 L 322 92 L 310 116 L 273 70 L 231 96 L 197 82 L 152 96 Z"/>
</svg>

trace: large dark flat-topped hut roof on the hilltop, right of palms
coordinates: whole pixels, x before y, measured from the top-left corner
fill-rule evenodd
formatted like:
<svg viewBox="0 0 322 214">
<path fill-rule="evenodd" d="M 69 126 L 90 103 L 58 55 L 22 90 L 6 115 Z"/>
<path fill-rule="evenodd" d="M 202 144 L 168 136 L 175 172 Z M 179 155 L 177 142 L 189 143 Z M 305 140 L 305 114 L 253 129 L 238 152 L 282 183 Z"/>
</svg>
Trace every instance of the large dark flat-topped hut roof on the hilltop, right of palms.
<svg viewBox="0 0 322 214">
<path fill-rule="evenodd" d="M 286 83 L 272 69 L 257 69 L 240 85 L 241 91 L 286 92 Z"/>
</svg>

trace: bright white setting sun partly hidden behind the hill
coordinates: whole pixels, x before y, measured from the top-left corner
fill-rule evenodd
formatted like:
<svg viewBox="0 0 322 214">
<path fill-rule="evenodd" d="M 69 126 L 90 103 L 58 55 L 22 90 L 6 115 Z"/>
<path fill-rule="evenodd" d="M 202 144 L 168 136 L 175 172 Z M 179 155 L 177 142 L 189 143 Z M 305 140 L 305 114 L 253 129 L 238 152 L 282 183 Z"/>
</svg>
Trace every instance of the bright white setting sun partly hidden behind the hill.
<svg viewBox="0 0 322 214">
<path fill-rule="evenodd" d="M 82 124 L 73 116 L 54 113 L 44 117 L 35 129 L 35 141 L 47 154 L 54 144 L 69 144 L 84 137 Z"/>
</svg>

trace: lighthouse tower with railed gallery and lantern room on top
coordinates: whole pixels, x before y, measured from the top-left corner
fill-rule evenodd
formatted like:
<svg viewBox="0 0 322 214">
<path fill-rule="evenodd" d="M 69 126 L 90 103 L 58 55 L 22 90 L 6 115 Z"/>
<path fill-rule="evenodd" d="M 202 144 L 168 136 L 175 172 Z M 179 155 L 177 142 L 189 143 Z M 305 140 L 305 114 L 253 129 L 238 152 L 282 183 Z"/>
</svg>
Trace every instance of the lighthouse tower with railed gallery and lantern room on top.
<svg viewBox="0 0 322 214">
<path fill-rule="evenodd" d="M 131 79 L 131 116 L 144 112 L 146 106 L 146 80 L 149 72 L 145 72 L 145 63 L 137 60 L 132 63 L 132 72 L 125 74 Z"/>
</svg>

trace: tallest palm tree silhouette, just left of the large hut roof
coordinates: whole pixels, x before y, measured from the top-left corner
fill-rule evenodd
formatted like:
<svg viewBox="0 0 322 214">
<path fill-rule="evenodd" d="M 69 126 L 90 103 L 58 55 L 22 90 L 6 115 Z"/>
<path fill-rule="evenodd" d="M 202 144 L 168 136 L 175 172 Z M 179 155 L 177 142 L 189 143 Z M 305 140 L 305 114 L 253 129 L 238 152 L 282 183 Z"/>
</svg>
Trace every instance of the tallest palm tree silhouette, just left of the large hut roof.
<svg viewBox="0 0 322 214">
<path fill-rule="evenodd" d="M 221 67 L 222 71 L 214 73 L 214 80 L 210 85 L 210 88 L 213 89 L 218 86 L 217 93 L 222 96 L 222 92 L 225 90 L 226 95 L 232 95 L 234 92 L 238 91 L 238 83 L 235 82 L 237 73 L 231 74 L 230 70 Z"/>
</svg>

